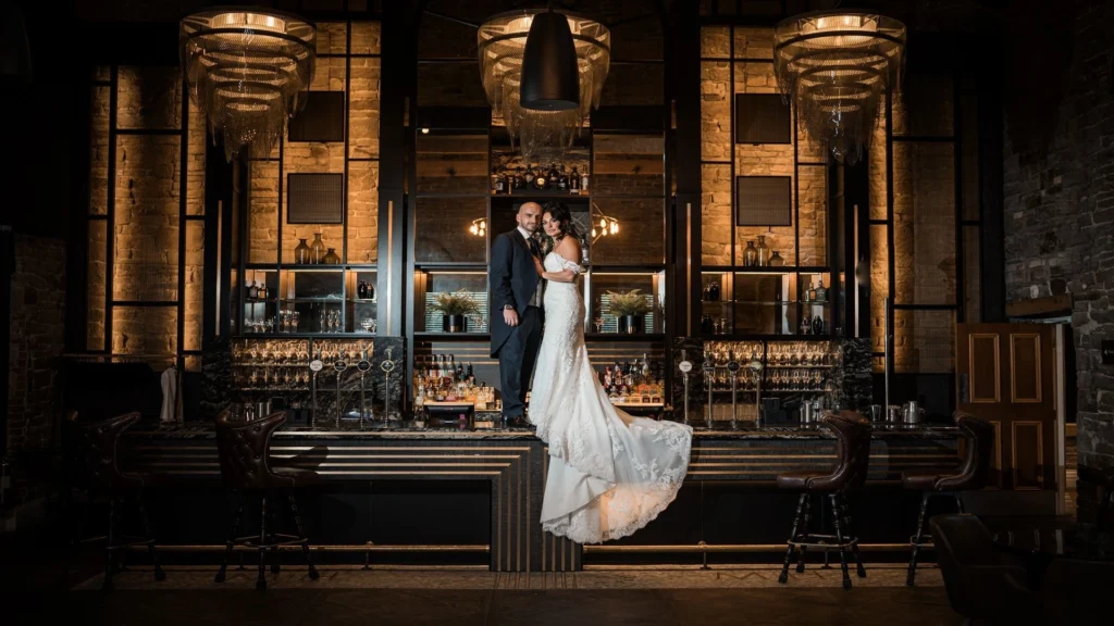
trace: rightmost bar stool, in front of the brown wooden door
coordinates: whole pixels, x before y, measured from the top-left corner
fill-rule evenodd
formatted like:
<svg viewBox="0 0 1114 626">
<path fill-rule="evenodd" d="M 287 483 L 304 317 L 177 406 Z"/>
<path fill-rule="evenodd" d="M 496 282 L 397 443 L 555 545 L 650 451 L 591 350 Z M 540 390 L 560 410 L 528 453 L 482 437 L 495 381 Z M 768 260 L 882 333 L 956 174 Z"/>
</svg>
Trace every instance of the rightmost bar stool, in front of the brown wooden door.
<svg viewBox="0 0 1114 626">
<path fill-rule="evenodd" d="M 964 512 L 962 492 L 976 491 L 986 487 L 986 477 L 990 471 L 990 454 L 994 452 L 994 427 L 989 422 L 962 411 L 956 411 L 954 418 L 956 426 L 962 432 L 967 448 L 959 471 L 955 473 L 901 472 L 901 487 L 921 492 L 920 515 L 917 516 L 917 534 L 909 540 L 912 551 L 909 556 L 909 573 L 906 576 L 906 585 L 910 587 L 912 587 L 913 578 L 917 576 L 917 552 L 924 546 L 932 544 L 932 537 L 924 535 L 928 501 L 932 496 L 952 496 L 956 499 L 956 508 L 959 509 L 959 512 Z"/>
</svg>

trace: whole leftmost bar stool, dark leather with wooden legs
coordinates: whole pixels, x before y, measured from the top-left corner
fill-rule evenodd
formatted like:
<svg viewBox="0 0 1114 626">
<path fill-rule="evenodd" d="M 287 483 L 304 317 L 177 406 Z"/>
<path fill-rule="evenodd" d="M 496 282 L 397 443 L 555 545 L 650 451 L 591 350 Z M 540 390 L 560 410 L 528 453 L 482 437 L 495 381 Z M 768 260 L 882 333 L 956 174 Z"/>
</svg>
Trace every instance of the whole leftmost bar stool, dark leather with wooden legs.
<svg viewBox="0 0 1114 626">
<path fill-rule="evenodd" d="M 84 466 L 82 480 L 87 501 L 108 502 L 108 536 L 105 546 L 105 580 L 101 588 L 113 589 L 113 575 L 117 569 L 124 569 L 127 551 L 133 546 L 147 546 L 152 563 L 155 566 L 155 580 L 165 580 L 166 574 L 158 565 L 158 551 L 155 548 L 155 532 L 152 530 L 150 518 L 144 506 L 144 490 L 155 482 L 155 475 L 143 472 L 125 472 L 119 464 L 120 436 L 131 424 L 139 421 L 139 413 L 126 413 L 116 418 L 97 422 L 82 423 L 77 411 L 66 415 L 75 428 L 78 443 L 78 454 Z M 143 524 L 141 536 L 124 535 L 120 520 L 125 505 L 134 503 Z M 124 551 L 119 563 L 116 563 L 117 551 Z"/>
</svg>

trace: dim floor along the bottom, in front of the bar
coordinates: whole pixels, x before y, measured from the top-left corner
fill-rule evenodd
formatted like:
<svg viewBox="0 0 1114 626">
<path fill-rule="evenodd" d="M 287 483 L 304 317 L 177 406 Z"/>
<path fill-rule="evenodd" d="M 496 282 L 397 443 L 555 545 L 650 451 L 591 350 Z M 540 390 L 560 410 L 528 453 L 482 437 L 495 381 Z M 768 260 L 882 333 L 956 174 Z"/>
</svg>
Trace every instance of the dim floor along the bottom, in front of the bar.
<svg viewBox="0 0 1114 626">
<path fill-rule="evenodd" d="M 130 626 L 158 624 L 342 624 L 504 626 L 619 625 L 958 625 L 939 573 L 924 568 L 915 588 L 905 569 L 876 566 L 854 589 L 840 586 L 838 567 L 791 574 L 779 585 L 776 566 L 595 568 L 575 574 L 496 574 L 478 569 L 322 568 L 311 581 L 302 568 L 283 568 L 265 594 L 255 571 L 232 569 L 213 583 L 213 568 L 172 567 L 163 583 L 148 569 L 100 576 L 75 590 L 26 607 L 17 624 L 68 620 Z M 62 622 L 66 623 L 66 622 Z"/>
</svg>

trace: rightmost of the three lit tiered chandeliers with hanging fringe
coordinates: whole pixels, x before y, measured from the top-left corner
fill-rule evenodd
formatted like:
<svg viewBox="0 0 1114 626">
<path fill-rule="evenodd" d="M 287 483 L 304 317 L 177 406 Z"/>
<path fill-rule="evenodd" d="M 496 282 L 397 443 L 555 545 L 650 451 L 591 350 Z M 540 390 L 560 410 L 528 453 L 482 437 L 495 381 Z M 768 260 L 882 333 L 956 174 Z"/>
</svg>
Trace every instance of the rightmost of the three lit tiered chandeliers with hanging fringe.
<svg viewBox="0 0 1114 626">
<path fill-rule="evenodd" d="M 774 74 L 809 135 L 840 163 L 856 164 L 870 141 L 878 104 L 900 88 L 906 27 L 856 11 L 819 11 L 774 29 Z"/>
</svg>

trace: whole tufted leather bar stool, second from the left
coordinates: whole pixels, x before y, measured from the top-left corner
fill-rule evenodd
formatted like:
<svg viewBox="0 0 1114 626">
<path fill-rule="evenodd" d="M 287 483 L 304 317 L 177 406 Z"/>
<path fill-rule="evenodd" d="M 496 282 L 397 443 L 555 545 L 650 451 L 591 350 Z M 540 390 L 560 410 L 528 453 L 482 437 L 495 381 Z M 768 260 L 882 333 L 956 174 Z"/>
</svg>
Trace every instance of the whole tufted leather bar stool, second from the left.
<svg viewBox="0 0 1114 626">
<path fill-rule="evenodd" d="M 246 546 L 260 550 L 260 574 L 255 588 L 267 589 L 264 576 L 267 551 L 276 551 L 282 546 L 302 546 L 305 564 L 310 569 L 310 579 L 316 580 L 320 575 L 310 558 L 310 540 L 302 529 L 302 516 L 297 512 L 294 491 L 317 482 L 317 475 L 311 470 L 295 468 L 272 468 L 270 462 L 271 436 L 286 422 L 286 413 L 272 413 L 265 418 L 252 421 L 233 420 L 227 411 L 216 419 L 217 452 L 221 458 L 221 477 L 226 488 L 238 491 L 240 506 L 233 518 L 232 530 L 221 560 L 221 569 L 215 580 L 224 583 L 225 570 L 228 568 L 228 555 L 235 546 Z M 267 509 L 267 499 L 286 495 L 297 535 L 275 532 L 274 507 Z M 243 518 L 244 503 L 248 497 L 260 499 L 260 534 L 248 537 L 236 537 L 240 521 Z M 277 556 L 271 563 L 271 573 L 277 574 L 280 565 Z"/>
</svg>

